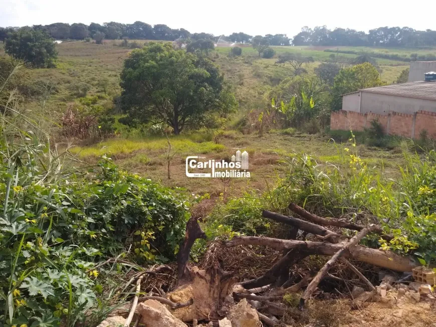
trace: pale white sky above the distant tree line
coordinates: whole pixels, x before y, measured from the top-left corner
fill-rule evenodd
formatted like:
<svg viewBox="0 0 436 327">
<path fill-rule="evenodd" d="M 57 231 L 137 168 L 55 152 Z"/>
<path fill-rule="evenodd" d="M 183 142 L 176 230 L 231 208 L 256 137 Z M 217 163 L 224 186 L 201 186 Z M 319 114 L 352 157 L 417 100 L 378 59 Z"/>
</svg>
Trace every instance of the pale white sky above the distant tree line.
<svg viewBox="0 0 436 327">
<path fill-rule="evenodd" d="M 365 32 L 381 26 L 436 30 L 436 20 L 429 16 L 435 12 L 434 0 L 422 0 L 416 6 L 393 0 L 0 0 L 0 26 L 141 21 L 184 28 L 191 33 L 244 32 L 293 37 L 303 26 L 322 25 L 329 29 L 341 27 Z"/>
</svg>

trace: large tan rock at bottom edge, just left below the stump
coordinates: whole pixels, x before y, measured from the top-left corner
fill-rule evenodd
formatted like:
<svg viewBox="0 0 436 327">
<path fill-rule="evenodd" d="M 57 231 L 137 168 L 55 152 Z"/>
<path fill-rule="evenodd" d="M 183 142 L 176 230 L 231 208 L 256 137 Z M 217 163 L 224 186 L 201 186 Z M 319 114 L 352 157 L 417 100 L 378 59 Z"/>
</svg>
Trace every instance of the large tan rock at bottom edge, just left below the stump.
<svg viewBox="0 0 436 327">
<path fill-rule="evenodd" d="M 141 315 L 140 322 L 146 327 L 186 327 L 186 324 L 173 316 L 165 305 L 156 300 L 139 303 L 136 311 Z"/>
</svg>

